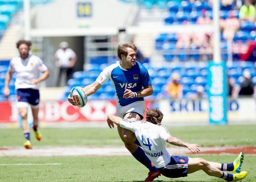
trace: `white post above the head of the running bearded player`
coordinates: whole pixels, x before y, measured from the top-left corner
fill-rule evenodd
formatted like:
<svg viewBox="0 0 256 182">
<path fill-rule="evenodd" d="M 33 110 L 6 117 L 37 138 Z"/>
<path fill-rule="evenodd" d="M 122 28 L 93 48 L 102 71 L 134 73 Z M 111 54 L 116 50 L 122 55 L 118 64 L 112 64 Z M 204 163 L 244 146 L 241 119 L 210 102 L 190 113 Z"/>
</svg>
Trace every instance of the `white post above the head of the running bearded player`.
<svg viewBox="0 0 256 182">
<path fill-rule="evenodd" d="M 30 23 L 30 1 L 29 0 L 24 0 L 23 1 L 23 10 L 24 10 L 24 39 L 25 40 L 30 40 L 30 29 L 31 29 L 31 23 Z"/>
</svg>

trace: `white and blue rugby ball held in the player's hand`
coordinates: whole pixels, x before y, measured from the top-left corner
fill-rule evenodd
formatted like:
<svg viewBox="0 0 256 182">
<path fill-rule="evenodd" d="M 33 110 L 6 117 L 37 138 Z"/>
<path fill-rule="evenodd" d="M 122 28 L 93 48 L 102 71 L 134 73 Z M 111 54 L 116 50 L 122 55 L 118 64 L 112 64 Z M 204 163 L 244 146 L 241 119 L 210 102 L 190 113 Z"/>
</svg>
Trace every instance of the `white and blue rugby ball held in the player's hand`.
<svg viewBox="0 0 256 182">
<path fill-rule="evenodd" d="M 76 106 L 84 107 L 87 102 L 87 94 L 82 87 L 73 87 L 70 93 L 71 97 L 73 97 Z"/>
</svg>

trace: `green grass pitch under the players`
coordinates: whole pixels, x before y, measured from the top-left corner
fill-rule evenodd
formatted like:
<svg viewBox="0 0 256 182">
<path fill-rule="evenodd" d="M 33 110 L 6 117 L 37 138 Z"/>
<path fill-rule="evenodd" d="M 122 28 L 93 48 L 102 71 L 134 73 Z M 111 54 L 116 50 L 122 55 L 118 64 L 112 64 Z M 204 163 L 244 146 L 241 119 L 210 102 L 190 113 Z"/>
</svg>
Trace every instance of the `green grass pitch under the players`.
<svg viewBox="0 0 256 182">
<path fill-rule="evenodd" d="M 189 143 L 201 146 L 256 146 L 256 125 L 228 125 L 228 126 L 174 126 L 169 131 Z M 79 129 L 41 129 L 42 141 L 38 142 L 31 133 L 34 146 L 101 146 L 122 145 L 116 128 L 79 128 Z M 25 139 L 21 129 L 0 129 L 0 147 L 22 146 Z M 237 153 L 239 153 L 238 151 Z M 1 150 L 0 150 L 1 153 Z M 202 155 L 209 161 L 220 163 L 232 162 L 237 155 Z M 190 157 L 194 157 L 190 155 Z M 198 155 L 196 155 L 198 157 Z M 12 165 L 60 163 L 60 165 Z M 242 170 L 248 172 L 242 181 L 254 182 L 255 155 L 245 155 Z M 0 157 L 0 181 L 143 181 L 148 170 L 132 156 L 51 156 L 51 157 Z M 169 179 L 160 176 L 154 181 L 190 181 L 224 182 L 222 179 L 207 176 L 199 171 L 188 177 Z"/>
</svg>

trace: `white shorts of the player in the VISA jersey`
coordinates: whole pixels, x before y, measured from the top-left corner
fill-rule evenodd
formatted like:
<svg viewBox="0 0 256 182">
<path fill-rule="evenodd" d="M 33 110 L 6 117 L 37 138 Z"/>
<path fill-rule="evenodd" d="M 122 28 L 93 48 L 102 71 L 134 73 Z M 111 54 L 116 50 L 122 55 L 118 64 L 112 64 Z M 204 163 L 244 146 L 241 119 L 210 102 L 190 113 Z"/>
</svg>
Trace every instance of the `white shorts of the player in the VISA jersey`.
<svg viewBox="0 0 256 182">
<path fill-rule="evenodd" d="M 116 116 L 123 118 L 128 112 L 136 112 L 137 114 L 144 117 L 145 107 L 145 101 L 136 101 L 126 106 L 117 105 Z"/>
</svg>

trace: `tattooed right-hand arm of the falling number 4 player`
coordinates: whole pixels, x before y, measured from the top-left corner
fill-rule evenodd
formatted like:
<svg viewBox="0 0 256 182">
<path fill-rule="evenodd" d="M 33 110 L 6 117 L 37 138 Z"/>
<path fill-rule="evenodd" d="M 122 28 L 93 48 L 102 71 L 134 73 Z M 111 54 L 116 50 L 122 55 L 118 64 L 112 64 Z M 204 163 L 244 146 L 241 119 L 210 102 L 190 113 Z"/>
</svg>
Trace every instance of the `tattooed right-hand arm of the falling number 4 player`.
<svg viewBox="0 0 256 182">
<path fill-rule="evenodd" d="M 166 141 L 169 144 L 172 144 L 172 145 L 187 147 L 193 154 L 198 153 L 200 151 L 200 148 L 199 148 L 200 145 L 189 144 L 189 143 L 186 143 L 186 142 L 182 141 L 181 139 L 178 139 L 178 138 L 173 137 L 173 136 L 168 137 L 166 139 Z"/>
</svg>

